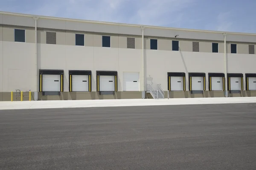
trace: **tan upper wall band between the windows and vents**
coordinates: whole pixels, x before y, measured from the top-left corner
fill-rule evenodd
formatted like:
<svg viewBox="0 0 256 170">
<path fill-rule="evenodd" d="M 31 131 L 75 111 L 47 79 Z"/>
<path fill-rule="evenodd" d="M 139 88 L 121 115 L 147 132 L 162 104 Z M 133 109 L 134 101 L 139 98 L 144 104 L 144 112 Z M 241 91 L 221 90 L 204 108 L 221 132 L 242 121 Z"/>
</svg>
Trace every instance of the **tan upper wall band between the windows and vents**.
<svg viewBox="0 0 256 170">
<path fill-rule="evenodd" d="M 14 41 L 14 31 L 13 28 L 3 28 L 5 33 L 5 41 Z M 75 31 L 56 31 L 57 36 L 57 45 L 76 45 L 76 34 L 84 34 L 81 32 Z M 127 48 L 127 37 L 136 37 L 129 35 L 111 35 L 111 48 Z M 172 40 L 167 38 L 145 38 L 145 49 L 150 49 L 150 39 L 157 39 L 157 50 L 160 51 L 172 51 Z M 142 49 L 141 38 L 135 38 L 135 48 Z M 178 39 L 177 39 L 178 40 Z M 189 51 L 192 52 L 192 42 L 194 40 L 178 40 L 180 51 Z M 26 42 L 34 43 L 35 35 L 34 30 L 26 30 Z M 46 43 L 46 31 L 38 31 L 38 43 Z M 231 42 L 227 42 L 227 53 L 231 53 L 230 48 Z M 250 43 L 248 43 L 250 44 Z M 237 44 L 237 53 L 238 54 L 249 54 L 248 44 Z M 102 47 L 102 34 L 84 34 L 84 46 L 88 47 Z M 224 53 L 224 43 L 218 42 L 219 53 Z M 200 52 L 212 53 L 212 42 L 211 41 L 199 41 Z"/>
</svg>

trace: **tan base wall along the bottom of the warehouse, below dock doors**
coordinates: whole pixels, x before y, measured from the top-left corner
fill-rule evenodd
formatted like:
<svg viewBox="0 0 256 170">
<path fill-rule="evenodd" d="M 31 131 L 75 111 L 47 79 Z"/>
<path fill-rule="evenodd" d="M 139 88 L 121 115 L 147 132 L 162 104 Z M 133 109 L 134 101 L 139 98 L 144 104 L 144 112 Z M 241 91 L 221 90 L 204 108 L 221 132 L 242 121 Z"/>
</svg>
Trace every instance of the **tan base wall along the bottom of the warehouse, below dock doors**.
<svg viewBox="0 0 256 170">
<path fill-rule="evenodd" d="M 204 94 L 191 94 L 190 91 L 170 91 L 169 99 L 172 98 L 201 98 L 201 97 L 224 97 L 223 91 L 204 91 Z M 256 91 L 241 91 L 240 94 L 230 94 L 229 97 L 256 97 Z M 117 91 L 114 95 L 99 95 L 99 92 L 61 92 L 60 96 L 42 96 L 38 93 L 38 100 L 91 100 L 91 99 L 141 99 L 142 92 L 139 91 Z M 150 93 L 146 94 L 147 99 L 153 99 Z M 168 98 L 168 91 L 165 91 L 165 98 Z M 31 93 L 31 100 L 34 100 L 34 93 Z M 11 92 L 0 92 L 0 101 L 11 101 Z M 16 101 L 16 93 L 13 92 L 13 101 Z M 17 101 L 20 96 L 17 93 Z M 29 92 L 23 92 L 23 101 L 29 101 Z"/>
</svg>

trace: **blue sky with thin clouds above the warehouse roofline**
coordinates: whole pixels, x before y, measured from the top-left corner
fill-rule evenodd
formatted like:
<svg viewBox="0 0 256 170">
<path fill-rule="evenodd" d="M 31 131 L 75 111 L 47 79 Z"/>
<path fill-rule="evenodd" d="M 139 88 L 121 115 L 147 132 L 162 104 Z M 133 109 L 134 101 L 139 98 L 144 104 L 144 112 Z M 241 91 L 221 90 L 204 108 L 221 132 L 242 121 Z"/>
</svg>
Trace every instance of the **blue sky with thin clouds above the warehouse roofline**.
<svg viewBox="0 0 256 170">
<path fill-rule="evenodd" d="M 0 11 L 256 33 L 256 0 L 0 0 Z"/>
</svg>

